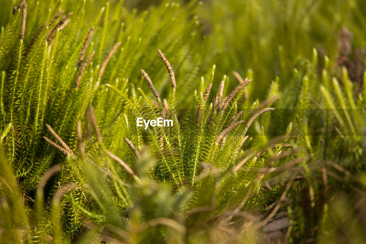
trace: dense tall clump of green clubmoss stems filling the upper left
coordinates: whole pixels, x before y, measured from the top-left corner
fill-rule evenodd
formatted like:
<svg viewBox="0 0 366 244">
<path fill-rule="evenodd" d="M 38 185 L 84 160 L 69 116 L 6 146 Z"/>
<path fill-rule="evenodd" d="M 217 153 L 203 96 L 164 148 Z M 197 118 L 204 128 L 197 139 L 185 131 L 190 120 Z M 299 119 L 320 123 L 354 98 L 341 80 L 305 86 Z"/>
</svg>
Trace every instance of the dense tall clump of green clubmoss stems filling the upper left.
<svg viewBox="0 0 366 244">
<path fill-rule="evenodd" d="M 34 22 L 27 21 L 25 40 L 15 41 L 19 30 L 16 23 L 22 10 L 15 13 L 1 33 L 1 129 L 11 123 L 11 131 L 4 142 L 9 146 L 15 175 L 22 179 L 21 187 L 26 191 L 35 189 L 41 175 L 52 164 L 63 161 L 57 150 L 49 147 L 42 137 L 50 136 L 46 133 L 46 124 L 74 150 L 76 122 L 82 120 L 86 108 L 94 104 L 105 136 L 105 129 L 121 115 L 125 100 L 116 99 L 117 95 L 112 91 L 105 92 L 104 84 L 127 92 L 127 97 L 128 80 L 136 81 L 137 85 L 142 82 L 138 75 L 131 74 L 136 74 L 134 71 L 141 66 L 154 67 L 151 60 L 140 58 L 142 55 L 155 56 L 149 54 L 150 47 L 165 48 L 169 55 L 179 46 L 184 55 L 175 55 L 181 59 L 173 60 L 184 67 L 179 66 L 181 72 L 177 72 L 177 78 L 180 74 L 191 74 L 190 70 L 197 66 L 190 59 L 199 53 L 188 45 L 186 38 L 194 40 L 190 33 L 197 32 L 199 25 L 195 21 L 176 24 L 191 15 L 194 2 L 184 9 L 177 4 L 162 4 L 140 16 L 127 14 L 122 3 L 107 3 L 91 19 L 83 14 L 88 4 L 63 1 L 48 5 L 30 1 L 28 12 L 37 10 L 34 15 L 48 14 L 32 16 Z M 57 14 L 66 6 L 72 12 Z M 118 16 L 121 12 L 124 14 Z M 167 14 L 162 14 L 164 12 Z M 93 25 L 94 32 L 87 36 L 83 28 Z M 34 32 L 30 31 L 38 27 L 39 31 L 35 30 L 32 37 Z M 89 39 L 89 45 L 86 39 Z M 117 42 L 122 44 L 110 52 Z M 76 66 L 78 62 L 80 65 Z M 161 66 L 152 69 L 152 77 L 163 69 Z M 164 82 L 158 81 L 157 84 Z M 164 94 L 164 90 L 160 92 Z"/>
</svg>

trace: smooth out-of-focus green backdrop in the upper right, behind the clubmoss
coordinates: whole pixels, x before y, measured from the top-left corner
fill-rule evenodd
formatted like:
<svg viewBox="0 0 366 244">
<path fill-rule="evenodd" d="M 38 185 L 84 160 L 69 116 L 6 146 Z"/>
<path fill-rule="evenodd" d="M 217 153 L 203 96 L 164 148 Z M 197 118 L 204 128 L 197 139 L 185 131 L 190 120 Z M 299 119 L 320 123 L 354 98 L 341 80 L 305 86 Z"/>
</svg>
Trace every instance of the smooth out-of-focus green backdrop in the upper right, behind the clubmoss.
<svg viewBox="0 0 366 244">
<path fill-rule="evenodd" d="M 127 0 L 126 6 L 143 11 L 162 2 Z M 244 78 L 254 78 L 249 88 L 252 101 L 263 99 L 276 77 L 286 86 L 291 71 L 301 70 L 306 60 L 311 61 L 313 48 L 320 56 L 316 67 L 319 73 L 324 68 L 325 55 L 330 59 L 330 68 L 340 73 L 337 59 L 343 27 L 351 32 L 351 56 L 361 60 L 361 70 L 354 75 L 362 77 L 366 46 L 366 5 L 362 0 L 204 0 L 202 3 L 195 12 L 203 24 L 201 36 L 208 39 L 201 73 L 216 64 L 217 77 L 228 75 L 231 88 L 238 84 L 233 70 Z"/>
</svg>

